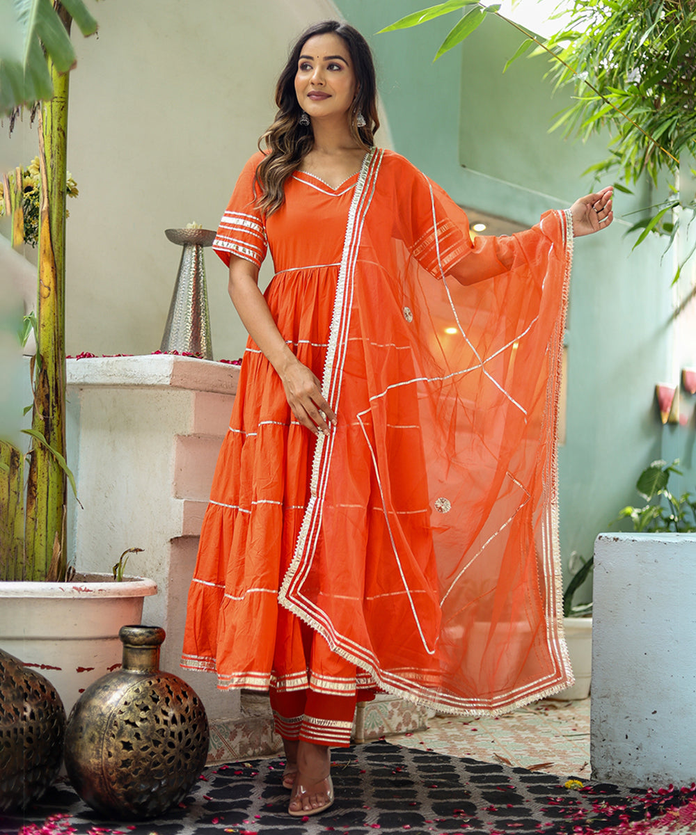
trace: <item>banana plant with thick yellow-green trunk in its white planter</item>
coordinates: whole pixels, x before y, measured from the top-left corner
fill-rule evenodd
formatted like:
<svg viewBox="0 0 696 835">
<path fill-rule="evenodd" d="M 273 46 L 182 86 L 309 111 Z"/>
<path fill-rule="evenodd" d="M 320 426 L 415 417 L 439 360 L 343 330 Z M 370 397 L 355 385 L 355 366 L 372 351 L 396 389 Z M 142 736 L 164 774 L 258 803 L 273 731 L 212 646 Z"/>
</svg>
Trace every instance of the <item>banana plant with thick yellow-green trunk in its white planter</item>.
<svg viewBox="0 0 696 835">
<path fill-rule="evenodd" d="M 28 451 L 18 433 L 0 438 L 0 646 L 47 671 L 69 710 L 79 691 L 118 665 L 119 627 L 140 622 L 143 598 L 155 594 L 156 586 L 140 578 L 115 583 L 109 574 L 71 576 L 68 566 L 67 483 L 74 487 L 74 481 L 65 460 L 64 253 L 69 71 L 75 63 L 69 31 L 73 18 L 84 35 L 97 24 L 83 0 L 16 0 L 13 13 L 3 47 L 15 52 L 0 53 L 0 114 L 12 128 L 19 107 L 38 110 L 38 301 L 23 326 L 25 337 L 33 326 L 37 352 L 30 364 L 32 424 L 22 430 Z M 20 248 L 23 171 L 3 178 L 3 185 L 13 245 Z M 108 600 L 114 601 L 113 619 Z M 33 642 L 47 637 L 43 647 Z M 102 648 L 97 639 L 104 641 Z"/>
</svg>

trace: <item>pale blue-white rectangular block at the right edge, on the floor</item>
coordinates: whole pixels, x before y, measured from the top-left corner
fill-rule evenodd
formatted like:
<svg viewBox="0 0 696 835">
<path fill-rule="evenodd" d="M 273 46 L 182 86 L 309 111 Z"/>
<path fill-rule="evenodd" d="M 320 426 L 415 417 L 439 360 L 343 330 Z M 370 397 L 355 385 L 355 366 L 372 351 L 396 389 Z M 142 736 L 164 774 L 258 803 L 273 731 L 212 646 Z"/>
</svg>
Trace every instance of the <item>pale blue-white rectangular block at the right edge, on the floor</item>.
<svg viewBox="0 0 696 835">
<path fill-rule="evenodd" d="M 696 781 L 696 534 L 600 534 L 592 620 L 592 777 Z"/>
</svg>

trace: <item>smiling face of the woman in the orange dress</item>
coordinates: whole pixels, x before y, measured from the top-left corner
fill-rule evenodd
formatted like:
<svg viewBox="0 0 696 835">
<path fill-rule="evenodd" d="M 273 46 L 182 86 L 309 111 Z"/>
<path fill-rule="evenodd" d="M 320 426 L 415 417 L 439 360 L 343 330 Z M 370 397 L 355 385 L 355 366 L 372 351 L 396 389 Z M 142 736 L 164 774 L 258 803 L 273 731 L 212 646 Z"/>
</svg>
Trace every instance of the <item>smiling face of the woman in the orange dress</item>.
<svg viewBox="0 0 696 835">
<path fill-rule="evenodd" d="M 330 32 L 314 35 L 304 43 L 297 61 L 295 94 L 311 119 L 335 119 L 347 114 L 356 86 L 343 38 Z"/>
</svg>

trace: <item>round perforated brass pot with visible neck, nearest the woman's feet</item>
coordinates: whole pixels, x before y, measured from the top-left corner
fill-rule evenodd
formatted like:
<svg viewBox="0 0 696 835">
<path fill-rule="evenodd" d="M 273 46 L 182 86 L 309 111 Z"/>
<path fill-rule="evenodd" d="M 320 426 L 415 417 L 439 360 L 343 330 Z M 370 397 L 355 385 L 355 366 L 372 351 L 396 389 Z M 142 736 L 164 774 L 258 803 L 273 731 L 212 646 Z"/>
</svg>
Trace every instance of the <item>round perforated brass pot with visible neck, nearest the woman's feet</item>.
<svg viewBox="0 0 696 835">
<path fill-rule="evenodd" d="M 70 713 L 65 767 L 82 799 L 119 819 L 179 803 L 206 763 L 208 721 L 196 693 L 158 670 L 165 630 L 124 626 L 123 669 L 84 691 Z"/>
</svg>

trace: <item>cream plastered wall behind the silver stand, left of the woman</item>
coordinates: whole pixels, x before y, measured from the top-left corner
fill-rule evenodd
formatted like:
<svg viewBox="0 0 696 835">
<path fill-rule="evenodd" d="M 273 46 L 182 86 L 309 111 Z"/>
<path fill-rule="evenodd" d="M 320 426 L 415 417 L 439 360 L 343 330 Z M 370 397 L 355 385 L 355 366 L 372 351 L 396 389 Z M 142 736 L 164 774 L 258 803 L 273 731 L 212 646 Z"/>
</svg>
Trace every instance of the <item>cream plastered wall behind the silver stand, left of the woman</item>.
<svg viewBox="0 0 696 835">
<path fill-rule="evenodd" d="M 236 177 L 275 113 L 277 75 L 297 34 L 340 18 L 329 0 L 118 0 L 89 7 L 97 37 L 74 27 L 68 167 L 69 354 L 143 354 L 160 347 L 180 259 L 164 230 L 215 229 Z M 383 122 L 384 124 L 384 122 Z M 0 168 L 37 153 L 28 118 Z M 388 134 L 380 130 L 380 140 Z M 9 234 L 7 221 L 0 232 Z M 270 278 L 264 265 L 262 281 Z M 213 351 L 241 356 L 246 334 L 226 269 L 206 251 Z"/>
</svg>

